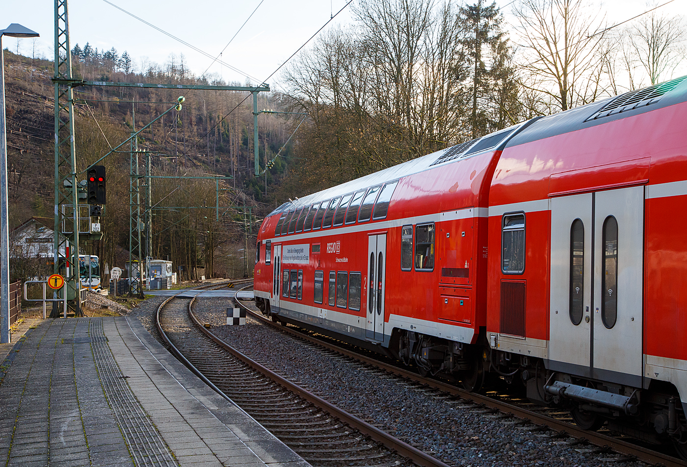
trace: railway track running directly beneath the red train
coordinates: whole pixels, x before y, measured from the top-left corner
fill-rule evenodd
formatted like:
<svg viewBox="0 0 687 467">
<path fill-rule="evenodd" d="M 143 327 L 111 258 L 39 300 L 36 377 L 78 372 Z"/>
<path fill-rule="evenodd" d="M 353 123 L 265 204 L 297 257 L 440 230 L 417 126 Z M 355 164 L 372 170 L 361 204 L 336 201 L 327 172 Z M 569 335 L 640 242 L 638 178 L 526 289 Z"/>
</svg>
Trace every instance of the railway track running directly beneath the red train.
<svg viewBox="0 0 687 467">
<path fill-rule="evenodd" d="M 664 465 L 668 467 L 687 466 L 687 462 L 682 461 L 682 459 L 666 453 L 654 451 L 647 446 L 635 444 L 624 435 L 617 435 L 610 431 L 597 433 L 580 429 L 575 424 L 567 421 L 570 420 L 567 411 L 539 407 L 529 403 L 526 399 L 517 398 L 517 396 L 502 395 L 504 394 L 503 392 L 488 392 L 486 395 L 466 392 L 460 387 L 456 387 L 445 381 L 423 377 L 405 368 L 399 368 L 391 359 L 374 354 L 368 350 L 351 346 L 337 339 L 314 333 L 297 326 L 282 326 L 281 324 L 276 324 L 268 318 L 265 318 L 262 314 L 250 309 L 240 301 L 238 301 L 238 304 L 240 307 L 246 309 L 247 313 L 250 313 L 251 317 L 256 318 L 256 320 L 260 320 L 265 324 L 274 326 L 283 332 L 290 333 L 300 339 L 305 339 L 307 342 L 317 344 L 317 346 L 324 347 L 332 352 L 337 352 L 340 355 L 345 355 L 346 357 L 350 357 L 366 365 L 401 376 L 403 379 L 411 381 L 412 383 L 425 385 L 428 390 L 435 390 L 440 397 L 449 395 L 468 401 L 477 411 L 483 411 L 486 408 L 493 411 L 499 411 L 502 414 L 510 414 L 533 424 L 548 427 L 558 433 L 567 433 L 578 440 L 586 440 L 598 446 L 600 450 L 610 449 L 627 458 L 636 458 L 649 464 Z M 622 460 L 622 458 L 618 460 Z"/>
</svg>

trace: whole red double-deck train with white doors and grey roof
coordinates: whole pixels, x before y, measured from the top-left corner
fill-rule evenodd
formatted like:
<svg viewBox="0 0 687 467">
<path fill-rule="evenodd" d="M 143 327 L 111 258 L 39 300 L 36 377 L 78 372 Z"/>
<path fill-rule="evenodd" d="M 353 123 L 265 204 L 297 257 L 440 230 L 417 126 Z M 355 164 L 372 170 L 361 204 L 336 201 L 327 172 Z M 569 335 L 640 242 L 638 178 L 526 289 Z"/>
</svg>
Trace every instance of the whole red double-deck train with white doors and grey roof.
<svg viewBox="0 0 687 467">
<path fill-rule="evenodd" d="M 685 455 L 686 122 L 678 78 L 286 203 L 260 227 L 256 302 Z"/>
</svg>

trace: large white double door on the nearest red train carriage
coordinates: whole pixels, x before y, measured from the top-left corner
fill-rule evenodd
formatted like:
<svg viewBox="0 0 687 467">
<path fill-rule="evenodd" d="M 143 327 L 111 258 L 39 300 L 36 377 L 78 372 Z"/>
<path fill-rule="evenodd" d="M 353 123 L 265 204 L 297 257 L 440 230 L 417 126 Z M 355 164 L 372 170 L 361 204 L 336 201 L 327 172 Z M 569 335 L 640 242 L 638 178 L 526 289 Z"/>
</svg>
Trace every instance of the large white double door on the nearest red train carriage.
<svg viewBox="0 0 687 467">
<path fill-rule="evenodd" d="M 552 370 L 641 385 L 643 251 L 644 187 L 552 198 Z"/>
</svg>

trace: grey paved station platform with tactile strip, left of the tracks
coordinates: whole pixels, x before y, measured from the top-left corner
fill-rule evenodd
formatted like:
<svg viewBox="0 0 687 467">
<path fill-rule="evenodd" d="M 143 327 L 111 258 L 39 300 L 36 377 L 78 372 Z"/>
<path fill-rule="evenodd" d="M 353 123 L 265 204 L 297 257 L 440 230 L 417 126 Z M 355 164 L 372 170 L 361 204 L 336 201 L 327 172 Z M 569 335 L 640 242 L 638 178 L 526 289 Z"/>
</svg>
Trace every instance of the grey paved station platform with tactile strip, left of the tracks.
<svg viewBox="0 0 687 467">
<path fill-rule="evenodd" d="M 32 327 L 0 366 L 5 466 L 310 465 L 136 318 Z"/>
</svg>

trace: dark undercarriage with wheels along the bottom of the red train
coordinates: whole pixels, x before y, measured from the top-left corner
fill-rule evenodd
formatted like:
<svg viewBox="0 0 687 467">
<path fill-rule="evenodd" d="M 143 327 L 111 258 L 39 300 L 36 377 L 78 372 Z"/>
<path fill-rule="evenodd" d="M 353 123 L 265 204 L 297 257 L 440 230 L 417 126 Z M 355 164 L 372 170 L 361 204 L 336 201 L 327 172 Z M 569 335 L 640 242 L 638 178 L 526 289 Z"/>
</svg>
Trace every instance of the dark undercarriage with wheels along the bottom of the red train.
<svg viewBox="0 0 687 467">
<path fill-rule="evenodd" d="M 258 298 L 256 304 L 273 321 L 291 322 L 271 313 L 269 302 Z M 313 331 L 328 333 L 322 328 Z M 363 341 L 352 344 L 398 359 L 405 366 L 417 368 L 423 376 L 458 383 L 469 392 L 508 385 L 511 392 L 533 403 L 570 411 L 578 427 L 596 431 L 605 425 L 611 431 L 650 444 L 672 443 L 678 455 L 687 459 L 687 419 L 671 383 L 651 381 L 648 389 L 642 389 L 552 372 L 545 368 L 543 359 L 490 348 L 484 333 L 480 333 L 476 344 L 463 344 L 394 329 L 388 348 Z"/>
</svg>

